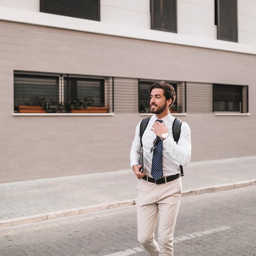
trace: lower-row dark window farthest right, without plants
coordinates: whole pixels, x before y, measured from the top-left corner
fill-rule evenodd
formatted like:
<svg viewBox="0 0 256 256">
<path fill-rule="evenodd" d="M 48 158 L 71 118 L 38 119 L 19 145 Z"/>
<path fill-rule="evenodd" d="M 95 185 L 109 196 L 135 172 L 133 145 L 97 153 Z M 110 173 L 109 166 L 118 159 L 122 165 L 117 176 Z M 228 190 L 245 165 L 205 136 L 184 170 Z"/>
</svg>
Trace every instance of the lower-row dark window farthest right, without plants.
<svg viewBox="0 0 256 256">
<path fill-rule="evenodd" d="M 248 112 L 248 86 L 213 84 L 213 112 Z"/>
</svg>

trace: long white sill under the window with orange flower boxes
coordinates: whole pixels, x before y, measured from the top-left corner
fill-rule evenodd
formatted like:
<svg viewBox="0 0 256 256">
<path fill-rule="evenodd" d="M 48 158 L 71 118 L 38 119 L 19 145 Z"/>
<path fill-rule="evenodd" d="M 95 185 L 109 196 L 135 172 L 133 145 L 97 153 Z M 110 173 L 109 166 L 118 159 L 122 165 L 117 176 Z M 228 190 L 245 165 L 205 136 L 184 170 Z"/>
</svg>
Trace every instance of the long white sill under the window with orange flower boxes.
<svg viewBox="0 0 256 256">
<path fill-rule="evenodd" d="M 81 117 L 81 116 L 114 116 L 115 113 L 12 113 L 12 116 L 14 117 L 63 117 L 63 116 L 70 116 L 70 117 Z"/>
</svg>

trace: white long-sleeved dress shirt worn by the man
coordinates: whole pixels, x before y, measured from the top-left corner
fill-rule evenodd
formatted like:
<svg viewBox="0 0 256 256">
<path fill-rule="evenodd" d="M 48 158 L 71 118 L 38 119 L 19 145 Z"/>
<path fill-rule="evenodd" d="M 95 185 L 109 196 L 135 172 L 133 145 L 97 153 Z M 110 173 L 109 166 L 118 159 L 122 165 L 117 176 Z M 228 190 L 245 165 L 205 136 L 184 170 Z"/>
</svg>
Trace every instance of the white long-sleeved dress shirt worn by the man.
<svg viewBox="0 0 256 256">
<path fill-rule="evenodd" d="M 144 149 L 144 171 L 145 174 L 149 177 L 152 177 L 151 165 L 152 165 L 152 156 L 153 151 L 150 153 L 150 149 L 153 146 L 153 141 L 156 138 L 155 132 L 150 130 L 156 121 L 157 117 L 153 115 L 149 122 L 146 130 L 142 136 L 142 145 Z M 168 137 L 163 141 L 163 177 L 170 175 L 175 175 L 180 173 L 180 165 L 186 166 L 189 164 L 191 159 L 191 132 L 189 125 L 185 122 L 182 122 L 180 139 L 178 143 L 173 139 L 173 117 L 170 113 L 162 118 L 164 124 L 168 128 Z M 132 148 L 130 151 L 130 165 L 134 166 L 139 164 L 139 152 L 141 148 L 140 137 L 139 137 L 139 128 L 140 123 L 136 126 L 135 138 L 132 142 Z"/>
</svg>

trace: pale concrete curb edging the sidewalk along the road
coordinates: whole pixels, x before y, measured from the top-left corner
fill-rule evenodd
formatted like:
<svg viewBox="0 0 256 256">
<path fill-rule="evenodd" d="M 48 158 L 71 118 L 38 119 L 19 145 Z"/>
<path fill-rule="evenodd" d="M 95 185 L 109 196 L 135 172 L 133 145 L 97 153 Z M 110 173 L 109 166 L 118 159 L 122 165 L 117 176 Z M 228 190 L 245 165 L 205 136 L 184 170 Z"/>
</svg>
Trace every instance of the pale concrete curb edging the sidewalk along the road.
<svg viewBox="0 0 256 256">
<path fill-rule="evenodd" d="M 247 180 L 243 182 L 234 182 L 234 183 L 228 183 L 228 184 L 222 184 L 222 185 L 216 185 L 216 186 L 209 186 L 209 187 L 203 187 L 199 189 L 192 189 L 192 190 L 186 190 L 182 191 L 182 196 L 189 196 L 189 195 L 201 195 L 204 193 L 212 193 L 212 192 L 219 192 L 219 191 L 225 191 L 230 189 L 238 189 L 245 186 L 253 186 L 256 185 L 256 179 L 255 180 Z M 13 218 L 9 220 L 1 220 L 0 221 L 0 228 L 4 227 L 12 227 L 17 225 L 23 225 L 28 223 L 34 223 L 34 222 L 40 222 L 45 220 L 53 220 L 56 218 L 63 218 L 68 216 L 75 216 L 79 214 L 84 213 L 91 213 L 95 211 L 103 211 L 108 209 L 114 209 L 119 207 L 126 207 L 130 205 L 136 204 L 137 199 L 129 199 L 114 203 L 108 203 L 108 204 L 94 204 L 86 207 L 80 207 L 80 208 L 72 208 L 72 209 L 66 209 L 61 211 L 53 211 L 49 213 L 42 213 L 27 217 L 21 217 L 21 218 Z"/>
</svg>

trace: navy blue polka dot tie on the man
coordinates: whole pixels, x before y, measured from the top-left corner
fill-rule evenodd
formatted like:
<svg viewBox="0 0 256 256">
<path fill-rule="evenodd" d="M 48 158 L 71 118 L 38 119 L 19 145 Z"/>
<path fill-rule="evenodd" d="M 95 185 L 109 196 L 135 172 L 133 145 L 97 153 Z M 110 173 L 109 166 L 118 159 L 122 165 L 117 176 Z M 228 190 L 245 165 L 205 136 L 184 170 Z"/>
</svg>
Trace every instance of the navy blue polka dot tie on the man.
<svg viewBox="0 0 256 256">
<path fill-rule="evenodd" d="M 156 120 L 162 123 L 163 120 Z M 157 136 L 152 157 L 151 175 L 155 180 L 163 176 L 163 141 Z"/>
</svg>

